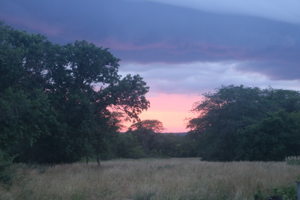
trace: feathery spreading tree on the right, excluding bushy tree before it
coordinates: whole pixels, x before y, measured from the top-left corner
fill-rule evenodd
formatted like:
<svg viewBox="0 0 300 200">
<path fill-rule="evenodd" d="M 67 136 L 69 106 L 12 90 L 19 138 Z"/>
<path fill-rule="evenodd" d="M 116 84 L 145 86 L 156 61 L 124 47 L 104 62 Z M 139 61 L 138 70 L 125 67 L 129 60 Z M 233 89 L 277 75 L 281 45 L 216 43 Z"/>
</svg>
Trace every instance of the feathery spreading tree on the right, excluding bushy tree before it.
<svg viewBox="0 0 300 200">
<path fill-rule="evenodd" d="M 221 86 L 203 96 L 193 105 L 198 116 L 189 120 L 188 136 L 197 141 L 203 159 L 222 161 L 235 158 L 239 129 L 259 123 L 270 111 L 299 111 L 300 102 L 297 91 L 243 85 Z"/>
</svg>

